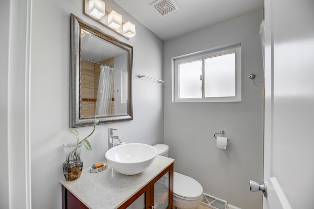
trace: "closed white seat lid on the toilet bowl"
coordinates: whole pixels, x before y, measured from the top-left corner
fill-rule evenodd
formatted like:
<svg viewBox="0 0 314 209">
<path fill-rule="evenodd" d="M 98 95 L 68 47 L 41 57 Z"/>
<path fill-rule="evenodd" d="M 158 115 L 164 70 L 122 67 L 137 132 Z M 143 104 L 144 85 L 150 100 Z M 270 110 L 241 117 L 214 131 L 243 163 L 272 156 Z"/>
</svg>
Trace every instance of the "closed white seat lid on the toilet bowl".
<svg viewBox="0 0 314 209">
<path fill-rule="evenodd" d="M 166 180 L 166 186 L 168 186 Z M 203 187 L 195 179 L 173 172 L 173 195 L 182 199 L 197 199 L 203 194 Z"/>
</svg>

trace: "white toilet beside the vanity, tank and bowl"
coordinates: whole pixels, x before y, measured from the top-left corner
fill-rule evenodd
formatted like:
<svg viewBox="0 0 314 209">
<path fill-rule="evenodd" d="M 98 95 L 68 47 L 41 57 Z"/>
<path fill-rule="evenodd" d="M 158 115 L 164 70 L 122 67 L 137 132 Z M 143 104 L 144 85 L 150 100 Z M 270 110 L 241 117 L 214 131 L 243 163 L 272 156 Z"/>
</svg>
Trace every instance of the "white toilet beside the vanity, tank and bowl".
<svg viewBox="0 0 314 209">
<path fill-rule="evenodd" d="M 169 146 L 156 144 L 157 154 L 168 157 Z M 166 180 L 166 186 L 168 186 Z M 178 209 L 194 209 L 203 199 L 203 187 L 195 179 L 181 173 L 173 173 L 173 205 Z"/>
</svg>

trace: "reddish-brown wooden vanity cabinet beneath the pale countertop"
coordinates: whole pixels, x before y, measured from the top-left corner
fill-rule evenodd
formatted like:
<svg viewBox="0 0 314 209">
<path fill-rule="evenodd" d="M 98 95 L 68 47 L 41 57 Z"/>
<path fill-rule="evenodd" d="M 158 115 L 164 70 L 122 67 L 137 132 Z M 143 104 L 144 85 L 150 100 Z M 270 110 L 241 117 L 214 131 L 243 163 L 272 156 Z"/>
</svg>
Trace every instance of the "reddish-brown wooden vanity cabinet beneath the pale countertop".
<svg viewBox="0 0 314 209">
<path fill-rule="evenodd" d="M 152 181 L 144 185 L 138 192 L 136 192 L 131 198 L 124 202 L 118 209 L 128 209 L 138 198 L 143 198 L 143 206 L 145 209 L 151 209 L 154 206 L 156 209 L 161 209 L 159 206 L 155 206 L 155 191 L 158 181 L 164 183 L 165 175 L 169 175 L 169 185 L 166 191 L 166 200 L 168 206 L 162 207 L 162 209 L 173 209 L 173 163 L 162 170 Z M 165 195 L 163 195 L 165 196 Z M 130 207 L 133 209 L 135 207 Z M 82 202 L 78 200 L 69 190 L 62 186 L 62 209 L 88 209 Z"/>
</svg>

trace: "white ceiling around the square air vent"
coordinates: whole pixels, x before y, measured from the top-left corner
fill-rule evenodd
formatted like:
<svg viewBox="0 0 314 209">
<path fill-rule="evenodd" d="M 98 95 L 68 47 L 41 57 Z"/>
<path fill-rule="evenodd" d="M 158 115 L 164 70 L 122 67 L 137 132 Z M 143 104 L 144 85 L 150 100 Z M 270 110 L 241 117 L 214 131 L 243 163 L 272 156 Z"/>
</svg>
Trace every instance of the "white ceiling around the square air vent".
<svg viewBox="0 0 314 209">
<path fill-rule="evenodd" d="M 264 0 L 174 0 L 179 10 L 161 16 L 161 0 L 114 0 L 160 39 L 166 41 L 245 13 L 262 9 Z"/>
</svg>

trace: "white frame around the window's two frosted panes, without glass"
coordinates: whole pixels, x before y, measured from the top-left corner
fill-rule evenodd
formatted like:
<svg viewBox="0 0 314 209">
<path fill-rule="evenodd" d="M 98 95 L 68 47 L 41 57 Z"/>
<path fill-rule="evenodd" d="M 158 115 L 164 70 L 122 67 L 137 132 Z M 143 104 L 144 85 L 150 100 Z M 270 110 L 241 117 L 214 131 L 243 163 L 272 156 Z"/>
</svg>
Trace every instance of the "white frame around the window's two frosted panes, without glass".
<svg viewBox="0 0 314 209">
<path fill-rule="evenodd" d="M 235 96 L 205 97 L 204 96 L 204 60 L 205 58 L 235 53 Z M 202 98 L 179 98 L 179 64 L 202 60 Z M 172 58 L 172 102 L 239 102 L 241 101 L 241 45 L 222 47 L 206 52 L 196 52 Z"/>
</svg>

